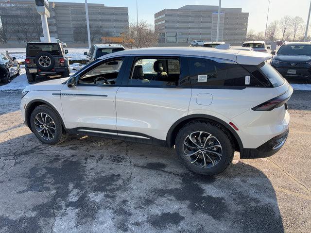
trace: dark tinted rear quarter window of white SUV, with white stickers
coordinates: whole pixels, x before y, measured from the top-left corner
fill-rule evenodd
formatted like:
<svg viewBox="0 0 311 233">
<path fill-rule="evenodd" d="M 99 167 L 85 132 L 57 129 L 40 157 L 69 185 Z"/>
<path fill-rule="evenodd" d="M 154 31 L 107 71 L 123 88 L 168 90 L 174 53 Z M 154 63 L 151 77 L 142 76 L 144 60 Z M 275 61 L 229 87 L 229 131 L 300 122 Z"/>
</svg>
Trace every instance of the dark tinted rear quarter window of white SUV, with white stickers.
<svg viewBox="0 0 311 233">
<path fill-rule="evenodd" d="M 239 64 L 223 59 L 188 58 L 192 87 L 264 86 Z"/>
</svg>

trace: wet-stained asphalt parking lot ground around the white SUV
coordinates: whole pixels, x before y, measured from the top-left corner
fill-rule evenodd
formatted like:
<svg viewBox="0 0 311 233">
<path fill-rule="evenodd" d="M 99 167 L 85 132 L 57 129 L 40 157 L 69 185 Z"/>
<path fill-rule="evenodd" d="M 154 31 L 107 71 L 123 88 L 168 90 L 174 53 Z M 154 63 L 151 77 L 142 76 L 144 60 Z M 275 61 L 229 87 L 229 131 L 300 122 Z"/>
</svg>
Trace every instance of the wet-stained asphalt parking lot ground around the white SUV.
<svg viewBox="0 0 311 233">
<path fill-rule="evenodd" d="M 0 233 L 310 233 L 311 92 L 294 91 L 285 146 L 215 177 L 173 149 L 71 136 L 40 143 L 20 92 L 0 91 Z"/>
</svg>

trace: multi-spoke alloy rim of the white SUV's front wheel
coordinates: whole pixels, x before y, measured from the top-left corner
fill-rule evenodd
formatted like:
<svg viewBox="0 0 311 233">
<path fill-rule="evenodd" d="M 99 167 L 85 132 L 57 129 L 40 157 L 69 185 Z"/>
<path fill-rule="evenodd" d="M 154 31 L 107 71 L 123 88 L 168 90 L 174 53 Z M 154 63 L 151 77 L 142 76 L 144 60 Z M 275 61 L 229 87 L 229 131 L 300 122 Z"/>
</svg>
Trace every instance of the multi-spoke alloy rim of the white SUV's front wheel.
<svg viewBox="0 0 311 233">
<path fill-rule="evenodd" d="M 56 134 L 55 122 L 50 115 L 38 113 L 35 116 L 35 130 L 45 140 L 51 140 Z"/>
</svg>

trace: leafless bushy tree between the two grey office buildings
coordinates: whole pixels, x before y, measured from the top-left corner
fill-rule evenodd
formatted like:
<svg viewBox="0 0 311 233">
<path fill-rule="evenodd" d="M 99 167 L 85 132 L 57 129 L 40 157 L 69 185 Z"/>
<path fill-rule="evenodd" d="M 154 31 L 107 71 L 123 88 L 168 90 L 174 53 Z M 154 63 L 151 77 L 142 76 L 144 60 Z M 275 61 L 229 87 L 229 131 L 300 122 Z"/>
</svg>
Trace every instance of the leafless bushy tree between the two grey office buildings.
<svg viewBox="0 0 311 233">
<path fill-rule="evenodd" d="M 128 29 L 122 33 L 124 46 L 128 48 L 144 48 L 155 46 L 158 42 L 158 33 L 145 21 L 138 24 L 132 23 Z"/>
</svg>

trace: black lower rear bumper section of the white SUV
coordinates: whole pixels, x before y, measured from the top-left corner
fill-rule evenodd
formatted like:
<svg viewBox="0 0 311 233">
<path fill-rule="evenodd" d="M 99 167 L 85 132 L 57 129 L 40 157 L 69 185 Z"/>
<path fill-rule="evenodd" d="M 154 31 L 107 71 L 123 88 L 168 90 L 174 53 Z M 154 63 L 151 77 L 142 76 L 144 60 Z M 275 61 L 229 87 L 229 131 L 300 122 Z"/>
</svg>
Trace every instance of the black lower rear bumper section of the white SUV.
<svg viewBox="0 0 311 233">
<path fill-rule="evenodd" d="M 265 158 L 271 155 L 274 155 L 279 151 L 284 145 L 289 130 L 287 129 L 284 133 L 277 135 L 276 137 L 270 139 L 266 143 L 262 144 L 256 149 L 243 148 L 240 151 L 241 159 L 256 159 L 256 158 Z"/>
</svg>

